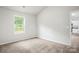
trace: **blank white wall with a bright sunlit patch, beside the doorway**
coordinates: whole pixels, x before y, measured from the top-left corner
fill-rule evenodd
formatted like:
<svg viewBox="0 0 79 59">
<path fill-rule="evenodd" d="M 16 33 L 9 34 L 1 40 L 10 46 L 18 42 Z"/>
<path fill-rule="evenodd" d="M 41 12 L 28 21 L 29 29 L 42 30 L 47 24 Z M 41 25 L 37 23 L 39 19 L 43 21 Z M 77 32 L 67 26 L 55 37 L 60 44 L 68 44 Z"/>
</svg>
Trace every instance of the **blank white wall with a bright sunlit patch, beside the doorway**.
<svg viewBox="0 0 79 59">
<path fill-rule="evenodd" d="M 62 44 L 70 44 L 70 12 L 77 7 L 51 6 L 38 15 L 38 36 Z"/>
</svg>

